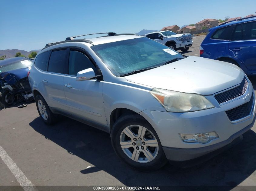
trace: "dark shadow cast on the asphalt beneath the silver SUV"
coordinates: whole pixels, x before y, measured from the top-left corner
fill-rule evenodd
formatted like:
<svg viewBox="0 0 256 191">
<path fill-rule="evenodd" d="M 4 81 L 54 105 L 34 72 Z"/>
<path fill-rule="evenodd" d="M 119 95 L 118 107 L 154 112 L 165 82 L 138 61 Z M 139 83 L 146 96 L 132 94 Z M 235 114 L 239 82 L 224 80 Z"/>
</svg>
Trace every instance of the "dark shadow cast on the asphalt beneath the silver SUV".
<svg viewBox="0 0 256 191">
<path fill-rule="evenodd" d="M 244 134 L 240 144 L 203 164 L 189 168 L 167 164 L 157 171 L 140 172 L 117 157 L 108 133 L 64 117 L 54 126 L 46 126 L 39 117 L 29 125 L 69 154 L 75 154 L 95 166 L 82 168 L 81 173 L 104 170 L 127 186 L 236 186 L 256 169 L 256 135 L 252 130 Z"/>
</svg>

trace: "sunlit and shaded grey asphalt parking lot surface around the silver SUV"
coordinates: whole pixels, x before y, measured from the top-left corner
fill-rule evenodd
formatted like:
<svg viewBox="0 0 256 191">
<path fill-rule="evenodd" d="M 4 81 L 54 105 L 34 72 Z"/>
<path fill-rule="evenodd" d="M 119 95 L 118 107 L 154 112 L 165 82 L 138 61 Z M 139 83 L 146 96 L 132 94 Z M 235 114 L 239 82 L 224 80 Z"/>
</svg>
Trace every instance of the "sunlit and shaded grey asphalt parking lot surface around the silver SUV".
<svg viewBox="0 0 256 191">
<path fill-rule="evenodd" d="M 199 56 L 204 36 L 194 38 L 185 54 Z M 256 90 L 256 78 L 250 80 Z M 141 172 L 117 157 L 108 133 L 65 117 L 47 126 L 35 103 L 0 111 L 0 150 L 35 186 L 256 186 L 255 132 L 256 125 L 241 143 L 197 166 L 167 164 Z M 24 180 L 17 179 L 1 158 L 0 172 L 0 186 L 19 186 Z"/>
</svg>

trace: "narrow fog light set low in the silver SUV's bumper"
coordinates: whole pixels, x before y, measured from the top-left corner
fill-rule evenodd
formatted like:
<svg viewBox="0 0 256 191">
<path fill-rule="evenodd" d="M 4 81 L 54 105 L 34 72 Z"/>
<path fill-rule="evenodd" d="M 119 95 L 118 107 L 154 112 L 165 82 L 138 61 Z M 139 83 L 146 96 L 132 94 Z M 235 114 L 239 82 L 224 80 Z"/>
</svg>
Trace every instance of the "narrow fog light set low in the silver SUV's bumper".
<svg viewBox="0 0 256 191">
<path fill-rule="evenodd" d="M 212 139 L 218 138 L 216 132 L 198 133 L 198 134 L 180 134 L 181 139 L 187 143 L 208 143 Z"/>
</svg>

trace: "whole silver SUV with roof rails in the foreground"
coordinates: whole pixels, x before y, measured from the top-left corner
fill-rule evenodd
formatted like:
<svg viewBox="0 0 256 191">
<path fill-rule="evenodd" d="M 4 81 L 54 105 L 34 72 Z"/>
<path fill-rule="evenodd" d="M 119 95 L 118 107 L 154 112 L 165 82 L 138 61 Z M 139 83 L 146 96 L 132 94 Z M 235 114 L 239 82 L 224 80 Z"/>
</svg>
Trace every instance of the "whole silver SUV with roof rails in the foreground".
<svg viewBox="0 0 256 191">
<path fill-rule="evenodd" d="M 74 38 L 35 58 L 29 82 L 38 113 L 48 125 L 61 114 L 109 132 L 132 167 L 211 155 L 254 124 L 252 84 L 233 64 L 131 34 Z"/>
</svg>

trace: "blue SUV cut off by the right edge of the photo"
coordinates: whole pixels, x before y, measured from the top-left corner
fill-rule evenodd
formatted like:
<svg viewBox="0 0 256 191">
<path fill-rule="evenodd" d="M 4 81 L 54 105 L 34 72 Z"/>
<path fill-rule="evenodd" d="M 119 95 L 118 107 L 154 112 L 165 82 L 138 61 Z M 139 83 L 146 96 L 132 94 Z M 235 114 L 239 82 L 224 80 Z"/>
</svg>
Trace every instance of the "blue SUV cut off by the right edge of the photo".
<svg viewBox="0 0 256 191">
<path fill-rule="evenodd" d="M 229 62 L 247 75 L 256 75 L 256 16 L 210 28 L 201 43 L 200 57 Z"/>
</svg>

